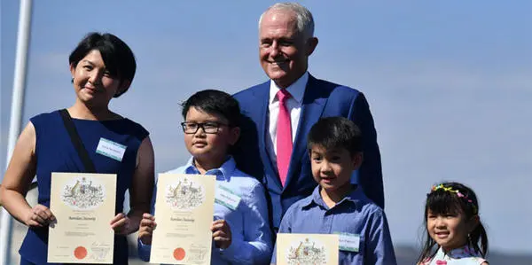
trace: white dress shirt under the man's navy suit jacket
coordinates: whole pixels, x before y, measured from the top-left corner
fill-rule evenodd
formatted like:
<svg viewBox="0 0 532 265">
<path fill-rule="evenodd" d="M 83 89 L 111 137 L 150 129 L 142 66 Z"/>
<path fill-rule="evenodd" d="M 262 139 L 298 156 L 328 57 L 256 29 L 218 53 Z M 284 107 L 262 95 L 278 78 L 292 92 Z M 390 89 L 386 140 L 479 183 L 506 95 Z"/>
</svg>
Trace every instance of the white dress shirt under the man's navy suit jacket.
<svg viewBox="0 0 532 265">
<path fill-rule="evenodd" d="M 301 115 L 301 105 L 303 102 L 303 95 L 305 94 L 305 88 L 309 82 L 309 72 L 301 75 L 301 77 L 293 82 L 286 88 L 286 91 L 292 95 L 286 99 L 286 107 L 290 113 L 290 124 L 292 125 L 292 143 L 295 140 L 295 134 L 299 125 L 299 119 Z M 266 148 L 268 149 L 268 155 L 273 162 L 274 167 L 277 167 L 277 121 L 279 115 L 279 100 L 277 97 L 278 90 L 281 88 L 270 80 L 270 100 L 268 101 L 269 119 L 268 119 L 268 131 L 269 136 L 266 137 Z"/>
</svg>

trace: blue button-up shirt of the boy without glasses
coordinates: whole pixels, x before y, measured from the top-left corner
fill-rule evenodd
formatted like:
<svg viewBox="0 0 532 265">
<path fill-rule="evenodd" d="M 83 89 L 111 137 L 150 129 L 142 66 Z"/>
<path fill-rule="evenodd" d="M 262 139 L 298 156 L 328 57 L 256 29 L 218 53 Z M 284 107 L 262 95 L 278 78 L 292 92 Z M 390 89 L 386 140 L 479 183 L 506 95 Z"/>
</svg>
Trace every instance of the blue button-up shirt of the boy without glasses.
<svg viewBox="0 0 532 265">
<path fill-rule="evenodd" d="M 397 264 L 386 215 L 360 187 L 332 208 L 327 207 L 319 191 L 317 186 L 309 197 L 288 208 L 279 233 L 359 235 L 358 252 L 340 250 L 339 264 Z M 276 249 L 271 263 L 276 263 Z"/>
</svg>

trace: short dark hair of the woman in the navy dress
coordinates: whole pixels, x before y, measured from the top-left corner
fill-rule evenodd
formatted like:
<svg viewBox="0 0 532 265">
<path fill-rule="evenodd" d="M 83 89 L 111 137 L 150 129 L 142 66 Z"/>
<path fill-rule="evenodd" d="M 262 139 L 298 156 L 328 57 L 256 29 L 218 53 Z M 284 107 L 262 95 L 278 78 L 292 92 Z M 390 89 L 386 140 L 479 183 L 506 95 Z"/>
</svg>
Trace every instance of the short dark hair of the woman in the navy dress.
<svg viewBox="0 0 532 265">
<path fill-rule="evenodd" d="M 68 63 L 71 66 L 77 66 L 80 60 L 93 50 L 100 52 L 104 64 L 106 64 L 106 68 L 111 75 L 120 79 L 121 82 L 133 82 L 133 77 L 135 77 L 135 71 L 137 70 L 135 55 L 129 49 L 128 44 L 109 33 L 99 34 L 98 32 L 91 32 L 86 35 L 78 43 L 74 51 L 70 53 Z M 120 97 L 127 90 L 129 90 L 129 86 L 124 90 L 117 91 L 114 97 Z"/>
</svg>

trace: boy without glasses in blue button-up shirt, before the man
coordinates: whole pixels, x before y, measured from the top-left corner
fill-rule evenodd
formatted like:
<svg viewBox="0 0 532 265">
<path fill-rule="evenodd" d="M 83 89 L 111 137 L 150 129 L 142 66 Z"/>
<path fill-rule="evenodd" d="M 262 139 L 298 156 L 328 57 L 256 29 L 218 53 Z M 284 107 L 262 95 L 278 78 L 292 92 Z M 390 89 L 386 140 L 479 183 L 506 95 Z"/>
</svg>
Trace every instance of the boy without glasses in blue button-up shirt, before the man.
<svg viewBox="0 0 532 265">
<path fill-rule="evenodd" d="M 350 181 L 363 160 L 360 129 L 343 117 L 321 119 L 309 131 L 308 148 L 319 185 L 288 208 L 278 232 L 339 233 L 339 264 L 396 264 L 384 211 Z"/>
</svg>

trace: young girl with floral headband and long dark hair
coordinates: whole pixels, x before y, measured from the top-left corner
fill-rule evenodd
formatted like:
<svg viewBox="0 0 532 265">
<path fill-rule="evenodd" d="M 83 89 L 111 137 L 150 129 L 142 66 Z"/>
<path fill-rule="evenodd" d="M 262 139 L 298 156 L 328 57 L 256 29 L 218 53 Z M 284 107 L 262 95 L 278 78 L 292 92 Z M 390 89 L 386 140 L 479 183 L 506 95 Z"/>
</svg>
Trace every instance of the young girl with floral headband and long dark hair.
<svg viewBox="0 0 532 265">
<path fill-rule="evenodd" d="M 419 265 L 488 264 L 484 260 L 488 236 L 470 188 L 460 183 L 433 186 L 426 196 L 425 223 L 426 243 Z"/>
</svg>

